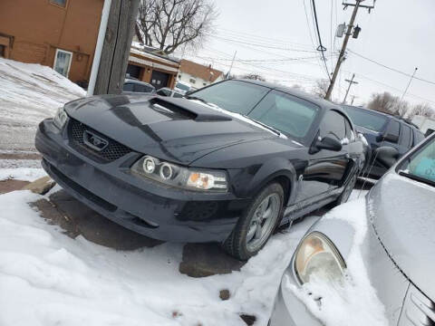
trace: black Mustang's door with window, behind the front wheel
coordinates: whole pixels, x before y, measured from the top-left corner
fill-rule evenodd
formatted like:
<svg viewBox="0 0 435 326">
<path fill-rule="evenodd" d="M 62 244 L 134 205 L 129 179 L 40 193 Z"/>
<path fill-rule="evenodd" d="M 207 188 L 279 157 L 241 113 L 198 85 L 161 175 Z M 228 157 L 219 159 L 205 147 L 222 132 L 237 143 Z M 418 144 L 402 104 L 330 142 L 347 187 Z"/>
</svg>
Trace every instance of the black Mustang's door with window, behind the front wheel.
<svg viewBox="0 0 435 326">
<path fill-rule="evenodd" d="M 346 138 L 346 118 L 339 111 L 327 110 L 324 113 L 316 137 L 320 140 L 326 136 L 339 140 L 343 148 L 340 151 L 321 149 L 309 154 L 308 166 L 300 177 L 301 189 L 296 197 L 299 202 L 327 197 L 343 183 L 350 160 L 348 148 L 351 139 Z"/>
</svg>

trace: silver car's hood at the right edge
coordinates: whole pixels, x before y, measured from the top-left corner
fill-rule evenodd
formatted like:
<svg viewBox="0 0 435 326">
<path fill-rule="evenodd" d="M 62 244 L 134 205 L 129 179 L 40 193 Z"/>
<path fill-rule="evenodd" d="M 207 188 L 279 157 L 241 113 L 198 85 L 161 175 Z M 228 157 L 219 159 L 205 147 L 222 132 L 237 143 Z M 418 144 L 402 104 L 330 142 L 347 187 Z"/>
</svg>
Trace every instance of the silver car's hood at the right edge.
<svg viewBox="0 0 435 326">
<path fill-rule="evenodd" d="M 368 213 L 391 259 L 435 301 L 435 188 L 391 170 L 372 188 Z"/>
</svg>

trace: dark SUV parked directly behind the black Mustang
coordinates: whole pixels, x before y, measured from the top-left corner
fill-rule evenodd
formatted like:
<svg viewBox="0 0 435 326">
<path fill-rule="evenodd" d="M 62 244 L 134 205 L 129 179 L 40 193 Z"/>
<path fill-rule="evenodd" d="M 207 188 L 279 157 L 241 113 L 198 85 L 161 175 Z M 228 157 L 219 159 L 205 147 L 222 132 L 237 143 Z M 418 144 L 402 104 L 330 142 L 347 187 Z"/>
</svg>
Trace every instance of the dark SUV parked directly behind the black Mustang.
<svg viewBox="0 0 435 326">
<path fill-rule="evenodd" d="M 375 150 L 389 146 L 398 150 L 401 158 L 411 148 L 424 139 L 423 133 L 413 124 L 382 112 L 349 105 L 342 105 L 358 132 L 367 139 L 370 147 L 370 160 L 364 177 L 379 179 L 388 170 L 376 158 Z"/>
</svg>

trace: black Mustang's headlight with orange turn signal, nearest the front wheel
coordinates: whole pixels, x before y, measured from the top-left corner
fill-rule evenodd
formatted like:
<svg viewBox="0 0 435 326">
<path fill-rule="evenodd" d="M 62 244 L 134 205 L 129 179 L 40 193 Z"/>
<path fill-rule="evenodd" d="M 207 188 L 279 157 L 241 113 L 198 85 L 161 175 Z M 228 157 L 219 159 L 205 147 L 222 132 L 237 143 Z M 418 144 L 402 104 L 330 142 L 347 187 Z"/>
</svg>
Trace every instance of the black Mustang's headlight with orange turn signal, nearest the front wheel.
<svg viewBox="0 0 435 326">
<path fill-rule="evenodd" d="M 173 187 L 201 191 L 227 191 L 227 174 L 224 171 L 185 168 L 149 155 L 140 158 L 131 167 L 131 171 L 141 177 Z"/>
</svg>

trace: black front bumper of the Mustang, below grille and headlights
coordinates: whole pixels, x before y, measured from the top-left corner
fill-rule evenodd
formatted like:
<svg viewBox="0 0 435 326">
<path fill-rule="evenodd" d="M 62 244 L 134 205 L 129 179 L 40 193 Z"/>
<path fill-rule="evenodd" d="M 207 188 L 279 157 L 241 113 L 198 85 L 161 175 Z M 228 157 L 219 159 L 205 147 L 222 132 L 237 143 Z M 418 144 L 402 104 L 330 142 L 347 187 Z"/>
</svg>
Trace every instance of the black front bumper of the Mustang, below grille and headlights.
<svg viewBox="0 0 435 326">
<path fill-rule="evenodd" d="M 40 123 L 35 147 L 43 168 L 73 197 L 132 231 L 163 241 L 222 242 L 249 204 L 231 193 L 198 193 L 134 176 L 130 167 L 143 155 L 134 151 L 98 162 L 70 146 L 66 130 L 52 120 Z"/>
</svg>

